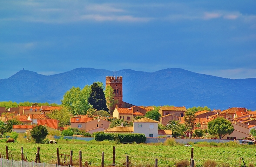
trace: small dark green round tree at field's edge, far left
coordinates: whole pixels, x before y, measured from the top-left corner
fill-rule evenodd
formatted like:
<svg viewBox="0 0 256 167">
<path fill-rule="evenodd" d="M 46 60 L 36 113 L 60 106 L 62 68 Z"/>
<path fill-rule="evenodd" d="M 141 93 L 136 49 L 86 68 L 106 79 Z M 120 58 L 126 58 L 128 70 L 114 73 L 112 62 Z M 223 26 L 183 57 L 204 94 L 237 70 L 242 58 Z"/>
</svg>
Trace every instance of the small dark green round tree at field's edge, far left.
<svg viewBox="0 0 256 167">
<path fill-rule="evenodd" d="M 31 137 L 35 140 L 36 143 L 43 143 L 43 140 L 46 138 L 48 130 L 45 126 L 39 125 L 33 127 L 31 131 Z"/>
</svg>

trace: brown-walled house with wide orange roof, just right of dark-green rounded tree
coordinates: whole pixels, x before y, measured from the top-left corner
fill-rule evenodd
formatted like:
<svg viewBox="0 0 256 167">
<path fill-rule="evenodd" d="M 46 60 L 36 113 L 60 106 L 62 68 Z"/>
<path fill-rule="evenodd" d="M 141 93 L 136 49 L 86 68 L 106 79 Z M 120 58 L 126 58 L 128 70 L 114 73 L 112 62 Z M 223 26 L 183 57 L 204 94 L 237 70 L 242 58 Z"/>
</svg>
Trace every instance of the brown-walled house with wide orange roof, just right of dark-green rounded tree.
<svg viewBox="0 0 256 167">
<path fill-rule="evenodd" d="M 183 117 L 184 112 L 187 111 L 186 107 L 160 107 L 159 113 L 161 116 L 166 116 L 168 114 L 173 114 L 176 117 Z"/>
</svg>

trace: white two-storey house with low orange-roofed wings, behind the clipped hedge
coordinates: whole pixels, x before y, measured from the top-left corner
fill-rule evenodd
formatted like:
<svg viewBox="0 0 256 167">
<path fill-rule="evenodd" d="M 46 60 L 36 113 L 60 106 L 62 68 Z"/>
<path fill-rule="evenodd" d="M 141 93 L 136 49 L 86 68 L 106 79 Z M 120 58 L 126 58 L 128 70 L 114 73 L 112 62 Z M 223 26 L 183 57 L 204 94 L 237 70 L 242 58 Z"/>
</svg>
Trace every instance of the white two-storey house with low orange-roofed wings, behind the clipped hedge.
<svg viewBox="0 0 256 167">
<path fill-rule="evenodd" d="M 116 126 L 104 131 L 105 133 L 143 133 L 146 137 L 158 137 L 159 135 L 171 136 L 170 130 L 159 131 L 158 121 L 149 118 L 141 118 L 133 121 L 132 127 Z"/>
</svg>

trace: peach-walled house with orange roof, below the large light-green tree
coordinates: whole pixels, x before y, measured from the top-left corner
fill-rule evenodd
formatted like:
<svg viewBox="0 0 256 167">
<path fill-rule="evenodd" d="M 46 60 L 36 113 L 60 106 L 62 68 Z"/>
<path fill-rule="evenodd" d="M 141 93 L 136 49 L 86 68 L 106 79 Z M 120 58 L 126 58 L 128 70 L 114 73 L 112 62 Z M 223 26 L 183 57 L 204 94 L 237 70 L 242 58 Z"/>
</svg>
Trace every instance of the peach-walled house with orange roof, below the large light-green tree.
<svg viewBox="0 0 256 167">
<path fill-rule="evenodd" d="M 106 130 L 110 121 L 104 119 L 94 119 L 94 118 L 70 118 L 70 127 L 71 128 L 79 128 L 88 133 L 94 132 L 103 132 Z"/>
</svg>

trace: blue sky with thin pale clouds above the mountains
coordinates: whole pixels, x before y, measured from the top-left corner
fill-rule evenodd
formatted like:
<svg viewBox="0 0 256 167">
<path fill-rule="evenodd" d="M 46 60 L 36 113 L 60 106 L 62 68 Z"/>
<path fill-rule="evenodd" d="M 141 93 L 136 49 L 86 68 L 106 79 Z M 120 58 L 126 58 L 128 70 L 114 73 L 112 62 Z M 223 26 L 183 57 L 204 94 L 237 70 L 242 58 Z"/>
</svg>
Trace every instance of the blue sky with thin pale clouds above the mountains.
<svg viewBox="0 0 256 167">
<path fill-rule="evenodd" d="M 256 78 L 255 0 L 1 0 L 0 79 L 80 67 Z"/>
</svg>

